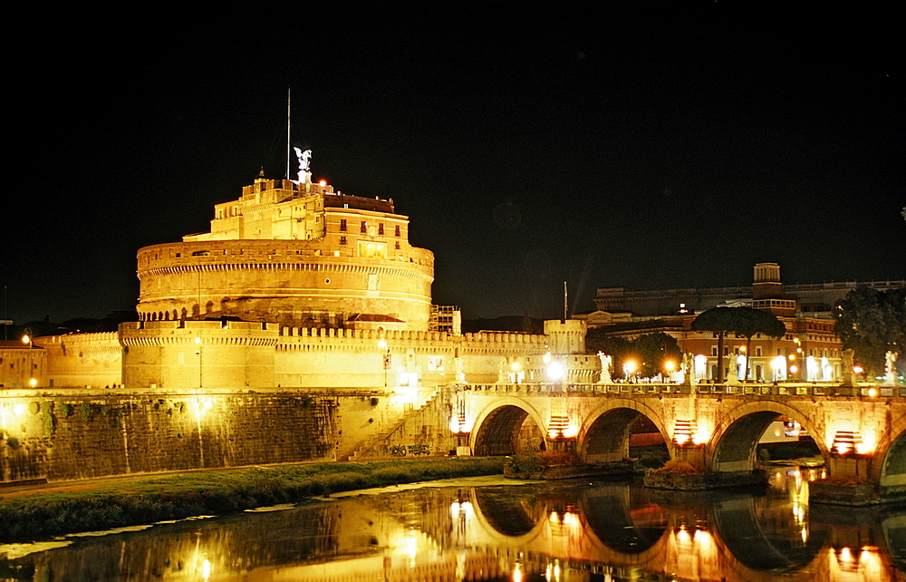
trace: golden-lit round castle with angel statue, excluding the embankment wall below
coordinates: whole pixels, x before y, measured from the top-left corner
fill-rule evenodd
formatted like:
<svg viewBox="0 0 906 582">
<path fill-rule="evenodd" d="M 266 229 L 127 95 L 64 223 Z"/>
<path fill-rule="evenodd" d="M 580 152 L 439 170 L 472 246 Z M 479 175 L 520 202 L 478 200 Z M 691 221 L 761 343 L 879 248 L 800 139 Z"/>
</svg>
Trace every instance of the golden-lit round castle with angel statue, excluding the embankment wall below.
<svg viewBox="0 0 906 582">
<path fill-rule="evenodd" d="M 217 204 L 210 232 L 141 248 L 139 321 L 37 339 L 39 384 L 431 390 L 538 382 L 545 354 L 583 353 L 579 321 L 462 334 L 458 310 L 431 303 L 434 255 L 410 245 L 409 218 L 313 182 L 309 158 Z M 596 357 L 570 359 L 574 380 L 596 379 Z"/>
</svg>

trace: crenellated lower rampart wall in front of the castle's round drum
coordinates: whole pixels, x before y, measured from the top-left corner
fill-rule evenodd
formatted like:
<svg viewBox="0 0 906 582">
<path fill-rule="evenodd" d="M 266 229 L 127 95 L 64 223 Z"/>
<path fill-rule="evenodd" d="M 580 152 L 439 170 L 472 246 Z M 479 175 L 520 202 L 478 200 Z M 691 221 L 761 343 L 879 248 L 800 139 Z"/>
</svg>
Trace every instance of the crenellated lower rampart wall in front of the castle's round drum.
<svg viewBox="0 0 906 582">
<path fill-rule="evenodd" d="M 234 321 L 120 325 L 122 383 L 134 390 L 384 390 L 493 383 L 506 381 L 513 364 L 531 376 L 540 374 L 542 365 L 535 360 L 545 353 L 547 341 L 545 335 L 506 332 L 455 335 Z M 598 359 L 583 357 L 589 376 Z"/>
</svg>

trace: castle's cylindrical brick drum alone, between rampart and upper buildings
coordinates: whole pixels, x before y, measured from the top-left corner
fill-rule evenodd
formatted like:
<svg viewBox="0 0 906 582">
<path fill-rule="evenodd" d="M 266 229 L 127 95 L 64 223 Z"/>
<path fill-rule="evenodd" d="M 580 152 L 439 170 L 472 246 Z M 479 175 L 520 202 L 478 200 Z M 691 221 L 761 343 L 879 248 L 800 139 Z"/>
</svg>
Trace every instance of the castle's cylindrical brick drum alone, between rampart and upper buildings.
<svg viewBox="0 0 906 582">
<path fill-rule="evenodd" d="M 317 240 L 216 240 L 143 247 L 140 318 L 335 325 L 364 313 L 428 326 L 430 251 L 407 243 L 405 251 L 379 258 L 361 257 L 352 246 L 330 253 L 322 246 Z"/>
</svg>

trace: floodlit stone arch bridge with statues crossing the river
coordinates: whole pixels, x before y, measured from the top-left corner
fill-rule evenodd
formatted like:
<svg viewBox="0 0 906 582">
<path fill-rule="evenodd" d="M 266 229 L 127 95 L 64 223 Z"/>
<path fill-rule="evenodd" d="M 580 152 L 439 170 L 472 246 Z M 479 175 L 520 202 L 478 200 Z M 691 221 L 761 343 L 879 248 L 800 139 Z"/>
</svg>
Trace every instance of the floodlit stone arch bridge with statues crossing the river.
<svg viewBox="0 0 906 582">
<path fill-rule="evenodd" d="M 619 383 L 453 390 L 450 429 L 476 455 L 514 454 L 527 426 L 549 450 L 574 451 L 589 463 L 622 461 L 632 424 L 644 416 L 671 459 L 703 472 L 750 471 L 768 425 L 786 417 L 814 438 L 832 475 L 857 478 L 883 494 L 906 490 L 902 388 Z"/>
</svg>

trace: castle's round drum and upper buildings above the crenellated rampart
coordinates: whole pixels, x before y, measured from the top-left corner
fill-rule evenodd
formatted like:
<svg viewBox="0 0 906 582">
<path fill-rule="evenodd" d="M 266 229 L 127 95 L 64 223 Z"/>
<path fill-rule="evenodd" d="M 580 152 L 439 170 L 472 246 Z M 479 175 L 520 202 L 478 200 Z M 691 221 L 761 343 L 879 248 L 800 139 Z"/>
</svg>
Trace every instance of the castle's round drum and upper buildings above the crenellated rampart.
<svg viewBox="0 0 906 582">
<path fill-rule="evenodd" d="M 218 204 L 212 231 L 138 253 L 143 321 L 235 317 L 427 330 L 434 255 L 409 244 L 392 200 L 257 179 Z"/>
</svg>

